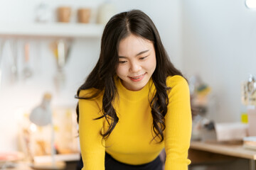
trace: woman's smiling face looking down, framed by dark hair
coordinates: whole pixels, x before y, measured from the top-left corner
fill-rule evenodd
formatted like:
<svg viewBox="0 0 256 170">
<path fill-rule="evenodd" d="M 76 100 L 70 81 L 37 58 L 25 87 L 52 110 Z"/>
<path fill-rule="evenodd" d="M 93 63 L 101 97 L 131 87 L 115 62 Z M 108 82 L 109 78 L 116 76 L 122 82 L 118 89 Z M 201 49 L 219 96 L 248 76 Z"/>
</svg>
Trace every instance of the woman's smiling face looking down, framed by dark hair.
<svg viewBox="0 0 256 170">
<path fill-rule="evenodd" d="M 131 34 L 119 42 L 118 56 L 117 76 L 126 89 L 139 91 L 156 69 L 153 42 Z"/>
</svg>

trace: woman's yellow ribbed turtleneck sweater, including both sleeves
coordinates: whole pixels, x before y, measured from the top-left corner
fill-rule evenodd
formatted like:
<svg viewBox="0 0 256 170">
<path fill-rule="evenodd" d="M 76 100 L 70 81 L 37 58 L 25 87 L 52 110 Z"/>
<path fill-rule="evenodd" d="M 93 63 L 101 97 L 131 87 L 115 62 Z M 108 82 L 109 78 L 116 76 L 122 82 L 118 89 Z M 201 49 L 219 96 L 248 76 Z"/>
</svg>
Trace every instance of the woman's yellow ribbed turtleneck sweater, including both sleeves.
<svg viewBox="0 0 256 170">
<path fill-rule="evenodd" d="M 166 85 L 169 105 L 165 116 L 164 142 L 152 140 L 153 118 L 149 101 L 155 91 L 152 80 L 140 91 L 129 91 L 116 82 L 118 97 L 112 103 L 119 122 L 107 140 L 102 140 L 100 131 L 108 129 L 102 115 L 102 95 L 94 100 L 79 100 L 79 136 L 83 170 L 104 170 L 105 152 L 125 164 L 146 164 L 166 150 L 166 170 L 188 169 L 188 148 L 191 139 L 191 105 L 188 84 L 181 76 L 168 77 Z M 92 89 L 80 91 L 80 97 L 92 93 Z M 150 100 L 149 100 L 150 99 Z M 153 134 L 153 135 L 152 135 Z M 156 139 L 158 139 L 156 137 Z"/>
</svg>

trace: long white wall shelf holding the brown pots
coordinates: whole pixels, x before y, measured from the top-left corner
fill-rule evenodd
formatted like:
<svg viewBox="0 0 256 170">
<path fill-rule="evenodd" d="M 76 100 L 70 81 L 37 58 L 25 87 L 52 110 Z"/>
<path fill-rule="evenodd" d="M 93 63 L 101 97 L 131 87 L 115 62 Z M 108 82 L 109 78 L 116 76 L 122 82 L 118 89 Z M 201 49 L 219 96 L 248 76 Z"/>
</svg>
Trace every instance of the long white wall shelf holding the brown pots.
<svg viewBox="0 0 256 170">
<path fill-rule="evenodd" d="M 1 23 L 0 36 L 100 38 L 103 29 L 92 23 Z"/>
</svg>

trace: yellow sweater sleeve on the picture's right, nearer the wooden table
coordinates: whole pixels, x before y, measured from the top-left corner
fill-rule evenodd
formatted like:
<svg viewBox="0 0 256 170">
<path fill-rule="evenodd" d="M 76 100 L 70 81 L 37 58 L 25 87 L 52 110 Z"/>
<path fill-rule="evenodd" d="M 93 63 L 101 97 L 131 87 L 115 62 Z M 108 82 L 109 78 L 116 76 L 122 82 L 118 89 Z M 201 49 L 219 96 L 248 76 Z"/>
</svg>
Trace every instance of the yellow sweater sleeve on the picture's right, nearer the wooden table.
<svg viewBox="0 0 256 170">
<path fill-rule="evenodd" d="M 181 76 L 167 80 L 171 84 L 168 112 L 166 113 L 165 150 L 166 170 L 187 170 L 191 161 L 188 148 L 191 140 L 191 104 L 188 84 Z"/>
</svg>

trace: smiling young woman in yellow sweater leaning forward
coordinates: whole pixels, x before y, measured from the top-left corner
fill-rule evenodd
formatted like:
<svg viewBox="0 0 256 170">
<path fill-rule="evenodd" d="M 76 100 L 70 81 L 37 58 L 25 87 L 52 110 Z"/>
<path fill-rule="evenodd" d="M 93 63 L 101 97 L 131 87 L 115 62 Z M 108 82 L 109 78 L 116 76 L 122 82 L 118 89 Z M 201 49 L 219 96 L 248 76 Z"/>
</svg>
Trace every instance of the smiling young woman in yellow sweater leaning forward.
<svg viewBox="0 0 256 170">
<path fill-rule="evenodd" d="M 188 84 L 149 16 L 119 13 L 105 26 L 100 59 L 78 89 L 83 170 L 188 169 Z"/>
</svg>

